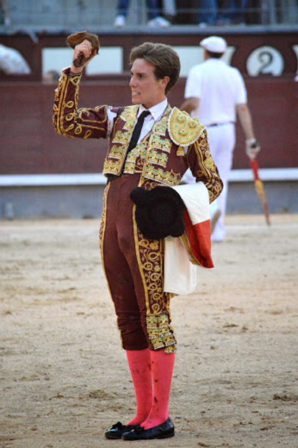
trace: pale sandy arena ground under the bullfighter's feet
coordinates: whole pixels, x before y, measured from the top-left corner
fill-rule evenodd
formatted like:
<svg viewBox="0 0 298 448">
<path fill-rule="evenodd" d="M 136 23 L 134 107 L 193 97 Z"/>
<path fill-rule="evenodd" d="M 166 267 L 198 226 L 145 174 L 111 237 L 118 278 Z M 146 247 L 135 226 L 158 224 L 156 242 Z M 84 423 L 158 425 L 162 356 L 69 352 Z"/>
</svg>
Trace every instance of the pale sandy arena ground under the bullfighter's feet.
<svg viewBox="0 0 298 448">
<path fill-rule="evenodd" d="M 0 223 L 0 447 L 298 447 L 298 216 L 229 216 L 172 300 L 176 437 L 110 441 L 134 415 L 98 220 Z"/>
</svg>

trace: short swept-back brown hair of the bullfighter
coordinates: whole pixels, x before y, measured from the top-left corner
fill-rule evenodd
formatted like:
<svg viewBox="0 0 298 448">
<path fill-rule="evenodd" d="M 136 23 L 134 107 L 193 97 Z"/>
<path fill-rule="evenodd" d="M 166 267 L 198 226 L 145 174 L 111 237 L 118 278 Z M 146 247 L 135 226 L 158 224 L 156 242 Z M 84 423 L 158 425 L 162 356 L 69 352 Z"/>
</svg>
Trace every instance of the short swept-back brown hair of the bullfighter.
<svg viewBox="0 0 298 448">
<path fill-rule="evenodd" d="M 145 59 L 155 66 L 155 76 L 162 79 L 169 76 L 170 80 L 166 85 L 166 93 L 176 84 L 180 73 L 180 59 L 173 48 L 164 43 L 144 42 L 138 47 L 134 47 L 130 52 L 129 62 L 132 65 L 135 59 Z"/>
</svg>

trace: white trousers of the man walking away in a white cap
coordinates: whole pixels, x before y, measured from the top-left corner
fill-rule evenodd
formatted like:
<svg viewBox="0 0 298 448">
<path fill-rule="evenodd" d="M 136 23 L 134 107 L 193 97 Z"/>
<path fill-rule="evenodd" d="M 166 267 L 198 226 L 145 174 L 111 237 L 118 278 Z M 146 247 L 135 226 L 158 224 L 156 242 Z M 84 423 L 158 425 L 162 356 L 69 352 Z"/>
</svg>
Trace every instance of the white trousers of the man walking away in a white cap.
<svg viewBox="0 0 298 448">
<path fill-rule="evenodd" d="M 213 241 L 222 241 L 225 238 L 225 211 L 227 207 L 227 192 L 229 172 L 232 168 L 233 151 L 236 142 L 235 126 L 233 123 L 207 127 L 209 148 L 213 160 L 218 167 L 218 172 L 223 182 L 220 196 L 211 204 L 211 218 L 216 210 L 220 210 L 220 218 L 212 232 Z M 190 169 L 183 176 L 185 183 L 195 182 Z"/>
</svg>

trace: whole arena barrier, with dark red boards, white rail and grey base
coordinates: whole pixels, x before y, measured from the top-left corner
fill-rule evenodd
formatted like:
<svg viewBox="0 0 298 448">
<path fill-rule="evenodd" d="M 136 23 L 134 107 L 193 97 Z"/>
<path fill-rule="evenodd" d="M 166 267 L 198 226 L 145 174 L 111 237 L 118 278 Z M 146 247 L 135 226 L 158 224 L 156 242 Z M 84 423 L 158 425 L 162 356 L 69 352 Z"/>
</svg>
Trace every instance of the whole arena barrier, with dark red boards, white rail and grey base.
<svg viewBox="0 0 298 448">
<path fill-rule="evenodd" d="M 259 30 L 260 31 L 260 30 Z M 248 104 L 253 113 L 255 132 L 262 144 L 258 158 L 262 169 L 279 171 L 267 176 L 265 190 L 271 211 L 298 211 L 297 207 L 297 34 L 267 32 L 243 34 L 227 32 L 231 60 L 246 80 Z M 222 35 L 222 33 L 221 33 Z M 101 45 L 122 45 L 123 71 L 118 74 L 84 75 L 80 88 L 81 106 L 97 104 L 129 104 L 129 50 L 145 40 L 163 41 L 171 45 L 194 48 L 204 34 L 108 34 L 101 36 Z M 3 42 L 3 38 L 4 41 Z M 106 141 L 80 141 L 59 136 L 52 128 L 52 99 L 55 85 L 44 85 L 42 77 L 43 48 L 62 48 L 66 35 L 39 35 L 38 45 L 28 36 L 1 36 L 1 43 L 13 46 L 27 58 L 30 76 L 0 76 L 0 218 L 13 216 L 99 216 L 104 180 L 99 174 L 106 153 Z M 277 58 L 269 71 L 252 73 L 248 61 L 253 52 L 269 48 Z M 271 53 L 270 53 L 271 52 Z M 277 52 L 277 53 L 276 53 Z M 259 54 L 260 56 L 260 54 Z M 278 62 L 279 61 L 279 62 Z M 194 61 L 193 63 L 196 63 Z M 279 74 L 274 70 L 278 70 Z M 269 64 L 270 65 L 270 64 Z M 277 67 L 277 69 L 276 69 Z M 268 67 L 267 67 L 268 70 Z M 271 71 L 270 71 L 271 70 Z M 183 102 L 185 76 L 169 94 L 172 106 Z M 237 144 L 229 183 L 228 211 L 258 213 L 262 211 L 249 179 L 248 159 L 244 152 L 243 134 L 236 126 Z M 281 176 L 281 170 L 283 175 Z M 235 176 L 235 174 L 237 176 Z M 76 181 L 74 175 L 93 174 L 98 181 Z M 266 171 L 263 172 L 266 177 Z M 32 176 L 48 177 L 39 186 Z M 55 184 L 57 175 L 72 175 L 70 183 Z M 19 182 L 17 177 L 19 177 Z M 22 176 L 28 176 L 22 184 Z M 39 179 L 41 179 L 39 176 Z M 237 178 L 237 179 L 236 179 Z M 29 180 L 31 179 L 31 180 Z M 52 179 L 52 181 L 50 181 Z M 87 178 L 86 178 L 87 179 Z M 12 181 L 15 182 L 13 185 Z M 52 182 L 52 184 L 51 184 Z"/>
</svg>

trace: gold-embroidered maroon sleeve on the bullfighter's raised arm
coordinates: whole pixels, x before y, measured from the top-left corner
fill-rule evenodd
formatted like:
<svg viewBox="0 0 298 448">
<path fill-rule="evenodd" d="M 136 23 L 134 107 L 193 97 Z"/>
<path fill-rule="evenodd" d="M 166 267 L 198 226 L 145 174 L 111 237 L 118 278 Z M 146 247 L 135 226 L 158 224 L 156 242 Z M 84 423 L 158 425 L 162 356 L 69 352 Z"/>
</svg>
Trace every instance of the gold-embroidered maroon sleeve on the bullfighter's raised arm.
<svg viewBox="0 0 298 448">
<path fill-rule="evenodd" d="M 62 71 L 55 91 L 52 122 L 55 130 L 66 137 L 100 139 L 108 137 L 108 106 L 78 109 L 80 75 Z"/>
</svg>

